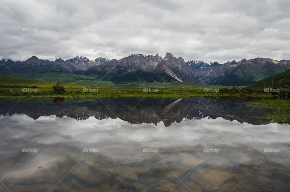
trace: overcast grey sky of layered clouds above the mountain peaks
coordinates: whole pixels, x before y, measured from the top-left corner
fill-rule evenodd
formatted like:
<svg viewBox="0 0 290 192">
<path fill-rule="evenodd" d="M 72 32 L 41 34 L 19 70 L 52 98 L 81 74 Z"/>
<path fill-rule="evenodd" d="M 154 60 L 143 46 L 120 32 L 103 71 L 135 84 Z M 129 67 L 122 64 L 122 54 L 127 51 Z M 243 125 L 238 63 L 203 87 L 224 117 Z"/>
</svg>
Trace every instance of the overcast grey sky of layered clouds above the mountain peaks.
<svg viewBox="0 0 290 192">
<path fill-rule="evenodd" d="M 290 1 L 0 0 L 0 58 L 290 59 Z"/>
</svg>

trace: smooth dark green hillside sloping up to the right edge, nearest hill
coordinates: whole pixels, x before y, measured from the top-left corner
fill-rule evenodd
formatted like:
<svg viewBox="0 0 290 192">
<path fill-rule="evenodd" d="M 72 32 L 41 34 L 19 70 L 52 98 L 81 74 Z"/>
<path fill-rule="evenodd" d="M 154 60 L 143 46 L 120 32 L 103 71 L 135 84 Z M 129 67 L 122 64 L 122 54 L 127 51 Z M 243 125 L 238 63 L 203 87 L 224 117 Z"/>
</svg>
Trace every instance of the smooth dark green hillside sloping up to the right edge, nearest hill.
<svg viewBox="0 0 290 192">
<path fill-rule="evenodd" d="M 248 88 L 283 88 L 284 85 L 290 85 L 290 70 L 260 80 L 252 85 L 249 85 Z"/>
</svg>

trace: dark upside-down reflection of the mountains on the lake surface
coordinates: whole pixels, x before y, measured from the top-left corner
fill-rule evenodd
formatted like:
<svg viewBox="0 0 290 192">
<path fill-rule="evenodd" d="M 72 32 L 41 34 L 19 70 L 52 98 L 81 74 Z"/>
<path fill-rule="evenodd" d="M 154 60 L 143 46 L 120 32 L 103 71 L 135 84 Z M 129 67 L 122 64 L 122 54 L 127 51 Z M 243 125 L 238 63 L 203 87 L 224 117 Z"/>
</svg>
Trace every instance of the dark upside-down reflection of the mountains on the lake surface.
<svg viewBox="0 0 290 192">
<path fill-rule="evenodd" d="M 33 119 L 55 114 L 60 118 L 68 116 L 77 120 L 94 116 L 97 119 L 119 118 L 136 124 L 156 125 L 162 121 L 165 126 L 180 122 L 183 118 L 193 120 L 204 117 L 222 117 L 251 124 L 270 123 L 269 120 L 259 118 L 271 112 L 270 109 L 248 107 L 244 102 L 211 98 L 47 98 L 21 100 L 19 103 L 18 100 L 2 100 L 0 114 L 27 114 Z"/>
</svg>

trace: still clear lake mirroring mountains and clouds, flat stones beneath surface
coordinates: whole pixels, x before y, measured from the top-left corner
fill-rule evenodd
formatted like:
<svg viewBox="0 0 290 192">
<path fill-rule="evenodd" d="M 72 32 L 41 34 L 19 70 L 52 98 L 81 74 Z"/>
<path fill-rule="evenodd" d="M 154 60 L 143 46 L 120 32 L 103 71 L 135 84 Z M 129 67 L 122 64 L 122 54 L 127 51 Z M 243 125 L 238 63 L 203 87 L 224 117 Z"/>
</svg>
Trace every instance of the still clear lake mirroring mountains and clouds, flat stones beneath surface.
<svg viewBox="0 0 290 192">
<path fill-rule="evenodd" d="M 1 100 L 0 191 L 289 191 L 289 125 L 244 102 Z"/>
</svg>

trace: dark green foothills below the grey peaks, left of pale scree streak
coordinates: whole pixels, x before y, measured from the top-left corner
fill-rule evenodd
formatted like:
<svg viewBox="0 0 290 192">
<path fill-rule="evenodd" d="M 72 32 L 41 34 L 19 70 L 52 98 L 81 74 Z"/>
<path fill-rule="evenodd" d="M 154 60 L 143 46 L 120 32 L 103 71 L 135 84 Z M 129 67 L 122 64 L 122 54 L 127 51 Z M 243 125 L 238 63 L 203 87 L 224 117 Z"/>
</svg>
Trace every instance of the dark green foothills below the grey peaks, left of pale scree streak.
<svg viewBox="0 0 290 192">
<path fill-rule="evenodd" d="M 18 78 L 63 82 L 71 84 L 86 84 L 106 87 L 137 87 L 143 83 L 154 82 L 176 82 L 176 79 L 164 72 L 144 72 L 142 70 L 118 73 L 107 73 L 105 71 L 76 71 L 76 72 L 50 72 L 50 73 L 17 73 Z M 14 74 L 5 75 L 15 77 Z"/>
</svg>

